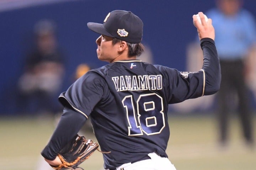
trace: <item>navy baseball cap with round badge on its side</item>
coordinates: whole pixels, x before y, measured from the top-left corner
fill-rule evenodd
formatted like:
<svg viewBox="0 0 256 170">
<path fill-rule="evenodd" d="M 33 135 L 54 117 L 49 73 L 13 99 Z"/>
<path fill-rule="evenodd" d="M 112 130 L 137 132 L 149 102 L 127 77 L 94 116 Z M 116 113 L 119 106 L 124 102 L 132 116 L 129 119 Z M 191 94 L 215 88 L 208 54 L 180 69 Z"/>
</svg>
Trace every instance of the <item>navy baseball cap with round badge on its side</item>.
<svg viewBox="0 0 256 170">
<path fill-rule="evenodd" d="M 108 13 L 103 24 L 89 22 L 87 26 L 101 35 L 116 37 L 136 44 L 142 41 L 143 22 L 130 11 L 112 11 Z"/>
</svg>

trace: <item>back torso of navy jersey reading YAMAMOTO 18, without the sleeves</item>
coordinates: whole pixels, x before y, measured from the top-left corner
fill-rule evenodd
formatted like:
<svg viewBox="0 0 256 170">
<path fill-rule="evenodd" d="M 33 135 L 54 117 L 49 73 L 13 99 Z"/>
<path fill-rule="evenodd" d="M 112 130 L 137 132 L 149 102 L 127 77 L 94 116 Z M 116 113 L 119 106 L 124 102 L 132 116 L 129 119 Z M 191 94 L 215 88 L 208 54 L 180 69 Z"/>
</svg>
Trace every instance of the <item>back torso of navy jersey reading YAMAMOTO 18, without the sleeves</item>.
<svg viewBox="0 0 256 170">
<path fill-rule="evenodd" d="M 121 61 L 95 71 L 109 89 L 91 113 L 101 149 L 111 151 L 104 154 L 105 163 L 134 162 L 151 152 L 167 157 L 168 103 L 159 70 L 141 61 Z"/>
</svg>

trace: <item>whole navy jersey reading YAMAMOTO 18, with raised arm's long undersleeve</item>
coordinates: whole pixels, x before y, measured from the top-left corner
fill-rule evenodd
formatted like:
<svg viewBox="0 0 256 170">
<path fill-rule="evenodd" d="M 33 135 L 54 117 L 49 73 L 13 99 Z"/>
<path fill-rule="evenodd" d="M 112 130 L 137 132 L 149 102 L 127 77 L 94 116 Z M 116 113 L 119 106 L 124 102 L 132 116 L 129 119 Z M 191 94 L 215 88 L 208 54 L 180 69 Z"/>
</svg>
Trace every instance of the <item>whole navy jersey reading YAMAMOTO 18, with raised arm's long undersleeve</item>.
<svg viewBox="0 0 256 170">
<path fill-rule="evenodd" d="M 214 41 L 202 39 L 201 46 L 204 63 L 198 72 L 179 72 L 140 60 L 116 61 L 90 70 L 60 95 L 60 102 L 75 114 L 91 116 L 101 150 L 110 152 L 103 154 L 106 169 L 152 152 L 167 157 L 168 104 L 214 94 L 219 88 Z M 45 157 L 49 147 L 42 152 Z"/>
</svg>

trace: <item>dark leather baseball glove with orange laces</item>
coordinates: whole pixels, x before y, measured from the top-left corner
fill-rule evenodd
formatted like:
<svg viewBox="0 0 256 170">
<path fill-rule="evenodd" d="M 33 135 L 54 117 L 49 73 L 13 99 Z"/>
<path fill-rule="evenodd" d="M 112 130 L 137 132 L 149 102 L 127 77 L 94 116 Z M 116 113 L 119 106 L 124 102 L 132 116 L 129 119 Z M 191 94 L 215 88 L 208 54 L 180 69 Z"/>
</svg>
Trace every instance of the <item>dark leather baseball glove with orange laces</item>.
<svg viewBox="0 0 256 170">
<path fill-rule="evenodd" d="M 91 139 L 86 140 L 84 136 L 76 135 L 58 154 L 62 164 L 50 166 L 56 170 L 79 168 L 78 165 L 88 159 L 98 146 L 98 143 L 93 143 Z"/>
</svg>

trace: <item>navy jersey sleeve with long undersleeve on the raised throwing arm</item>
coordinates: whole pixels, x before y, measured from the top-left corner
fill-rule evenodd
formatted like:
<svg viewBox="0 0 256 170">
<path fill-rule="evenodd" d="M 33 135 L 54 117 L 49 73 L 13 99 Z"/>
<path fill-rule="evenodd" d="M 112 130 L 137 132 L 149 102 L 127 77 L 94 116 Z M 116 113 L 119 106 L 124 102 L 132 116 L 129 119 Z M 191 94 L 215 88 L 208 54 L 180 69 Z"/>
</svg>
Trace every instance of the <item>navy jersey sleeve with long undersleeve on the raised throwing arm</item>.
<svg viewBox="0 0 256 170">
<path fill-rule="evenodd" d="M 219 90 L 220 64 L 214 40 L 201 40 L 203 66 L 198 72 L 180 72 L 176 69 L 155 66 L 164 77 L 166 98 L 169 104 L 191 98 L 212 95 Z"/>
</svg>

